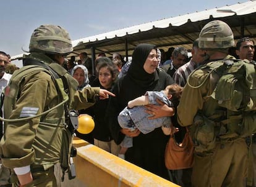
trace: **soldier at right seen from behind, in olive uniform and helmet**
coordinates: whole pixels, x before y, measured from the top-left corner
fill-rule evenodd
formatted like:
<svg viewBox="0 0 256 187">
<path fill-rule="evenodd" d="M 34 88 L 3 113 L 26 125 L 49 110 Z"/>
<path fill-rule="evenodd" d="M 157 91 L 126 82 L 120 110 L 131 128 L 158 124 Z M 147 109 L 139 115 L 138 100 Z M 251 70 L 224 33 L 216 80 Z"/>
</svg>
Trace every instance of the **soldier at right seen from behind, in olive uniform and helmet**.
<svg viewBox="0 0 256 187">
<path fill-rule="evenodd" d="M 245 137 L 255 132 L 255 114 L 249 112 L 255 110 L 255 104 L 248 104 L 252 99 L 235 98 L 233 104 L 237 104 L 236 109 L 233 109 L 233 104 L 230 108 L 221 105 L 225 101 L 216 98 L 218 94 L 228 98 L 228 84 L 223 90 L 216 90 L 219 85 L 221 86 L 220 81 L 224 76 L 217 69 L 213 70 L 210 67 L 220 64 L 218 70 L 224 72 L 231 68 L 236 70 L 237 63 L 240 67 L 246 67 L 246 71 L 249 72 L 241 76 L 246 76 L 249 81 L 255 81 L 254 65 L 242 60 L 238 62 L 228 55 L 228 48 L 234 45 L 233 32 L 226 23 L 219 20 L 209 22 L 202 28 L 198 45 L 200 49 L 206 50 L 209 61 L 190 74 L 177 107 L 178 122 L 182 126 L 190 127 L 195 145 L 192 185 L 245 186 L 248 164 Z M 246 85 L 245 82 L 239 84 L 240 80 L 243 79 L 234 79 L 238 82 L 235 87 Z M 255 86 L 251 84 L 250 89 L 253 87 Z M 234 94 L 250 94 L 250 90 L 243 90 L 237 89 Z M 245 113 L 246 110 L 248 111 Z"/>
</svg>

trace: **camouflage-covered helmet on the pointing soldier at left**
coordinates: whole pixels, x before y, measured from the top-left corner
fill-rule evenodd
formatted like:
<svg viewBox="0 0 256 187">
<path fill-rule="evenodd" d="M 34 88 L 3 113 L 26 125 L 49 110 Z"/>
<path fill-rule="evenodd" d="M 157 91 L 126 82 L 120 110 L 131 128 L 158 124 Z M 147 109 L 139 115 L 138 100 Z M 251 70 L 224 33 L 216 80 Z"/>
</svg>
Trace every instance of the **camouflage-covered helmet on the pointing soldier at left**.
<svg viewBox="0 0 256 187">
<path fill-rule="evenodd" d="M 56 25 L 41 25 L 32 33 L 29 50 L 67 55 L 73 51 L 73 47 L 69 33 L 64 28 Z"/>
</svg>

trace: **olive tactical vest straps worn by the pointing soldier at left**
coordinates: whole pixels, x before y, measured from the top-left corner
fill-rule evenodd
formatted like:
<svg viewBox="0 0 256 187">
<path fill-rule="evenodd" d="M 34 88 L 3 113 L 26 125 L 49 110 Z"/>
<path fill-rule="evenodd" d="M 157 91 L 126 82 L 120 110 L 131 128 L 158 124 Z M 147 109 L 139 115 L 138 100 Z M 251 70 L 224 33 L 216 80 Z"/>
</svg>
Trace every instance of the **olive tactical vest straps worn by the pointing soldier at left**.
<svg viewBox="0 0 256 187">
<path fill-rule="evenodd" d="M 4 98 L 4 106 L 10 106 L 4 108 L 4 114 L 6 119 L 9 119 L 9 115 L 12 112 L 12 109 L 15 108 L 16 101 L 19 98 L 20 94 L 20 86 L 22 82 L 25 80 L 26 76 L 31 74 L 37 74 L 41 71 L 44 71 L 45 73 L 48 73 L 51 75 L 51 78 L 54 81 L 56 90 L 58 91 L 59 96 L 59 103 L 63 102 L 64 100 L 67 100 L 66 103 L 58 106 L 58 108 L 55 108 L 53 110 L 53 113 L 56 113 L 56 120 L 54 119 L 48 119 L 47 113 L 48 111 L 43 111 L 43 116 L 40 117 L 40 123 L 49 123 L 49 124 L 62 124 L 62 145 L 61 145 L 61 153 L 60 153 L 60 159 L 59 162 L 61 163 L 61 167 L 63 172 L 66 172 L 66 170 L 69 170 L 69 157 L 70 157 L 70 149 L 72 146 L 72 132 L 70 132 L 68 126 L 67 126 L 67 110 L 72 108 L 72 105 L 74 103 L 74 95 L 75 91 L 77 90 L 78 83 L 75 81 L 72 76 L 70 76 L 69 73 L 67 73 L 66 70 L 64 70 L 58 63 L 51 63 L 49 64 L 49 67 L 47 65 L 32 60 L 32 63 L 28 64 L 37 64 L 37 65 L 26 65 L 23 66 L 19 71 L 15 71 L 10 82 L 9 82 L 9 88 L 6 90 L 6 92 L 9 92 L 8 94 L 5 94 Z M 31 98 L 36 99 L 36 98 Z M 40 115 L 40 114 L 39 114 Z M 38 115 L 37 115 L 38 116 Z M 5 122 L 5 126 L 8 122 Z"/>
</svg>

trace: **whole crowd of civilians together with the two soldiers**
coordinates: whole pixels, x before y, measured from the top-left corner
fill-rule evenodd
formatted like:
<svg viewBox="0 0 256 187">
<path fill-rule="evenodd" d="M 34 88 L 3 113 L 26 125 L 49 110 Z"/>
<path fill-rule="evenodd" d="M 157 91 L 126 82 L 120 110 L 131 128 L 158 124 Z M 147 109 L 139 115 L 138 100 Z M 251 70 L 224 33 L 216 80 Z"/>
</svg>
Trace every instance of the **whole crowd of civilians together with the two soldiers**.
<svg viewBox="0 0 256 187">
<path fill-rule="evenodd" d="M 73 123 L 71 108 L 95 121 L 91 133 L 71 134 L 178 185 L 256 186 L 254 41 L 239 39 L 236 54 L 231 47 L 231 28 L 214 20 L 193 42 L 192 57 L 184 47 L 164 52 L 139 44 L 130 62 L 101 53 L 92 63 L 86 52 L 65 60 L 73 49 L 64 28 L 36 28 L 23 68 L 9 68 L 10 58 L 0 52 L 1 115 L 11 119 L 1 130 L 0 186 L 56 186 L 53 165 L 68 162 L 72 135 L 67 145 L 63 137 L 69 134 L 64 124 Z M 170 135 L 181 143 L 187 130 L 193 167 L 168 170 Z"/>
</svg>

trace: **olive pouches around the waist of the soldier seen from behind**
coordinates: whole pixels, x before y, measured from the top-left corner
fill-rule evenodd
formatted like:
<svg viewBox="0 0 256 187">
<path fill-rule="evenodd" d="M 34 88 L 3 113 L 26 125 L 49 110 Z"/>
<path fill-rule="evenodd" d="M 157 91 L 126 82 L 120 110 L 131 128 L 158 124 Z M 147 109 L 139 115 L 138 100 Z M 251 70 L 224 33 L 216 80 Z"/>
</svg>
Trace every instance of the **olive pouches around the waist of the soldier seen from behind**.
<svg viewBox="0 0 256 187">
<path fill-rule="evenodd" d="M 256 116 L 255 116 L 256 117 Z M 225 119 L 220 122 L 215 122 L 210 117 L 205 117 L 202 114 L 197 114 L 194 117 L 194 146 L 195 153 L 198 154 L 211 154 L 216 146 L 217 142 L 236 141 L 239 138 L 245 138 L 252 135 L 252 131 L 249 129 L 254 128 L 254 117 L 242 119 L 242 115 L 229 116 L 229 119 Z M 247 122 L 247 124 L 246 124 Z M 241 132 L 244 129 L 244 132 Z M 256 129 L 256 127 L 255 127 Z"/>
</svg>

